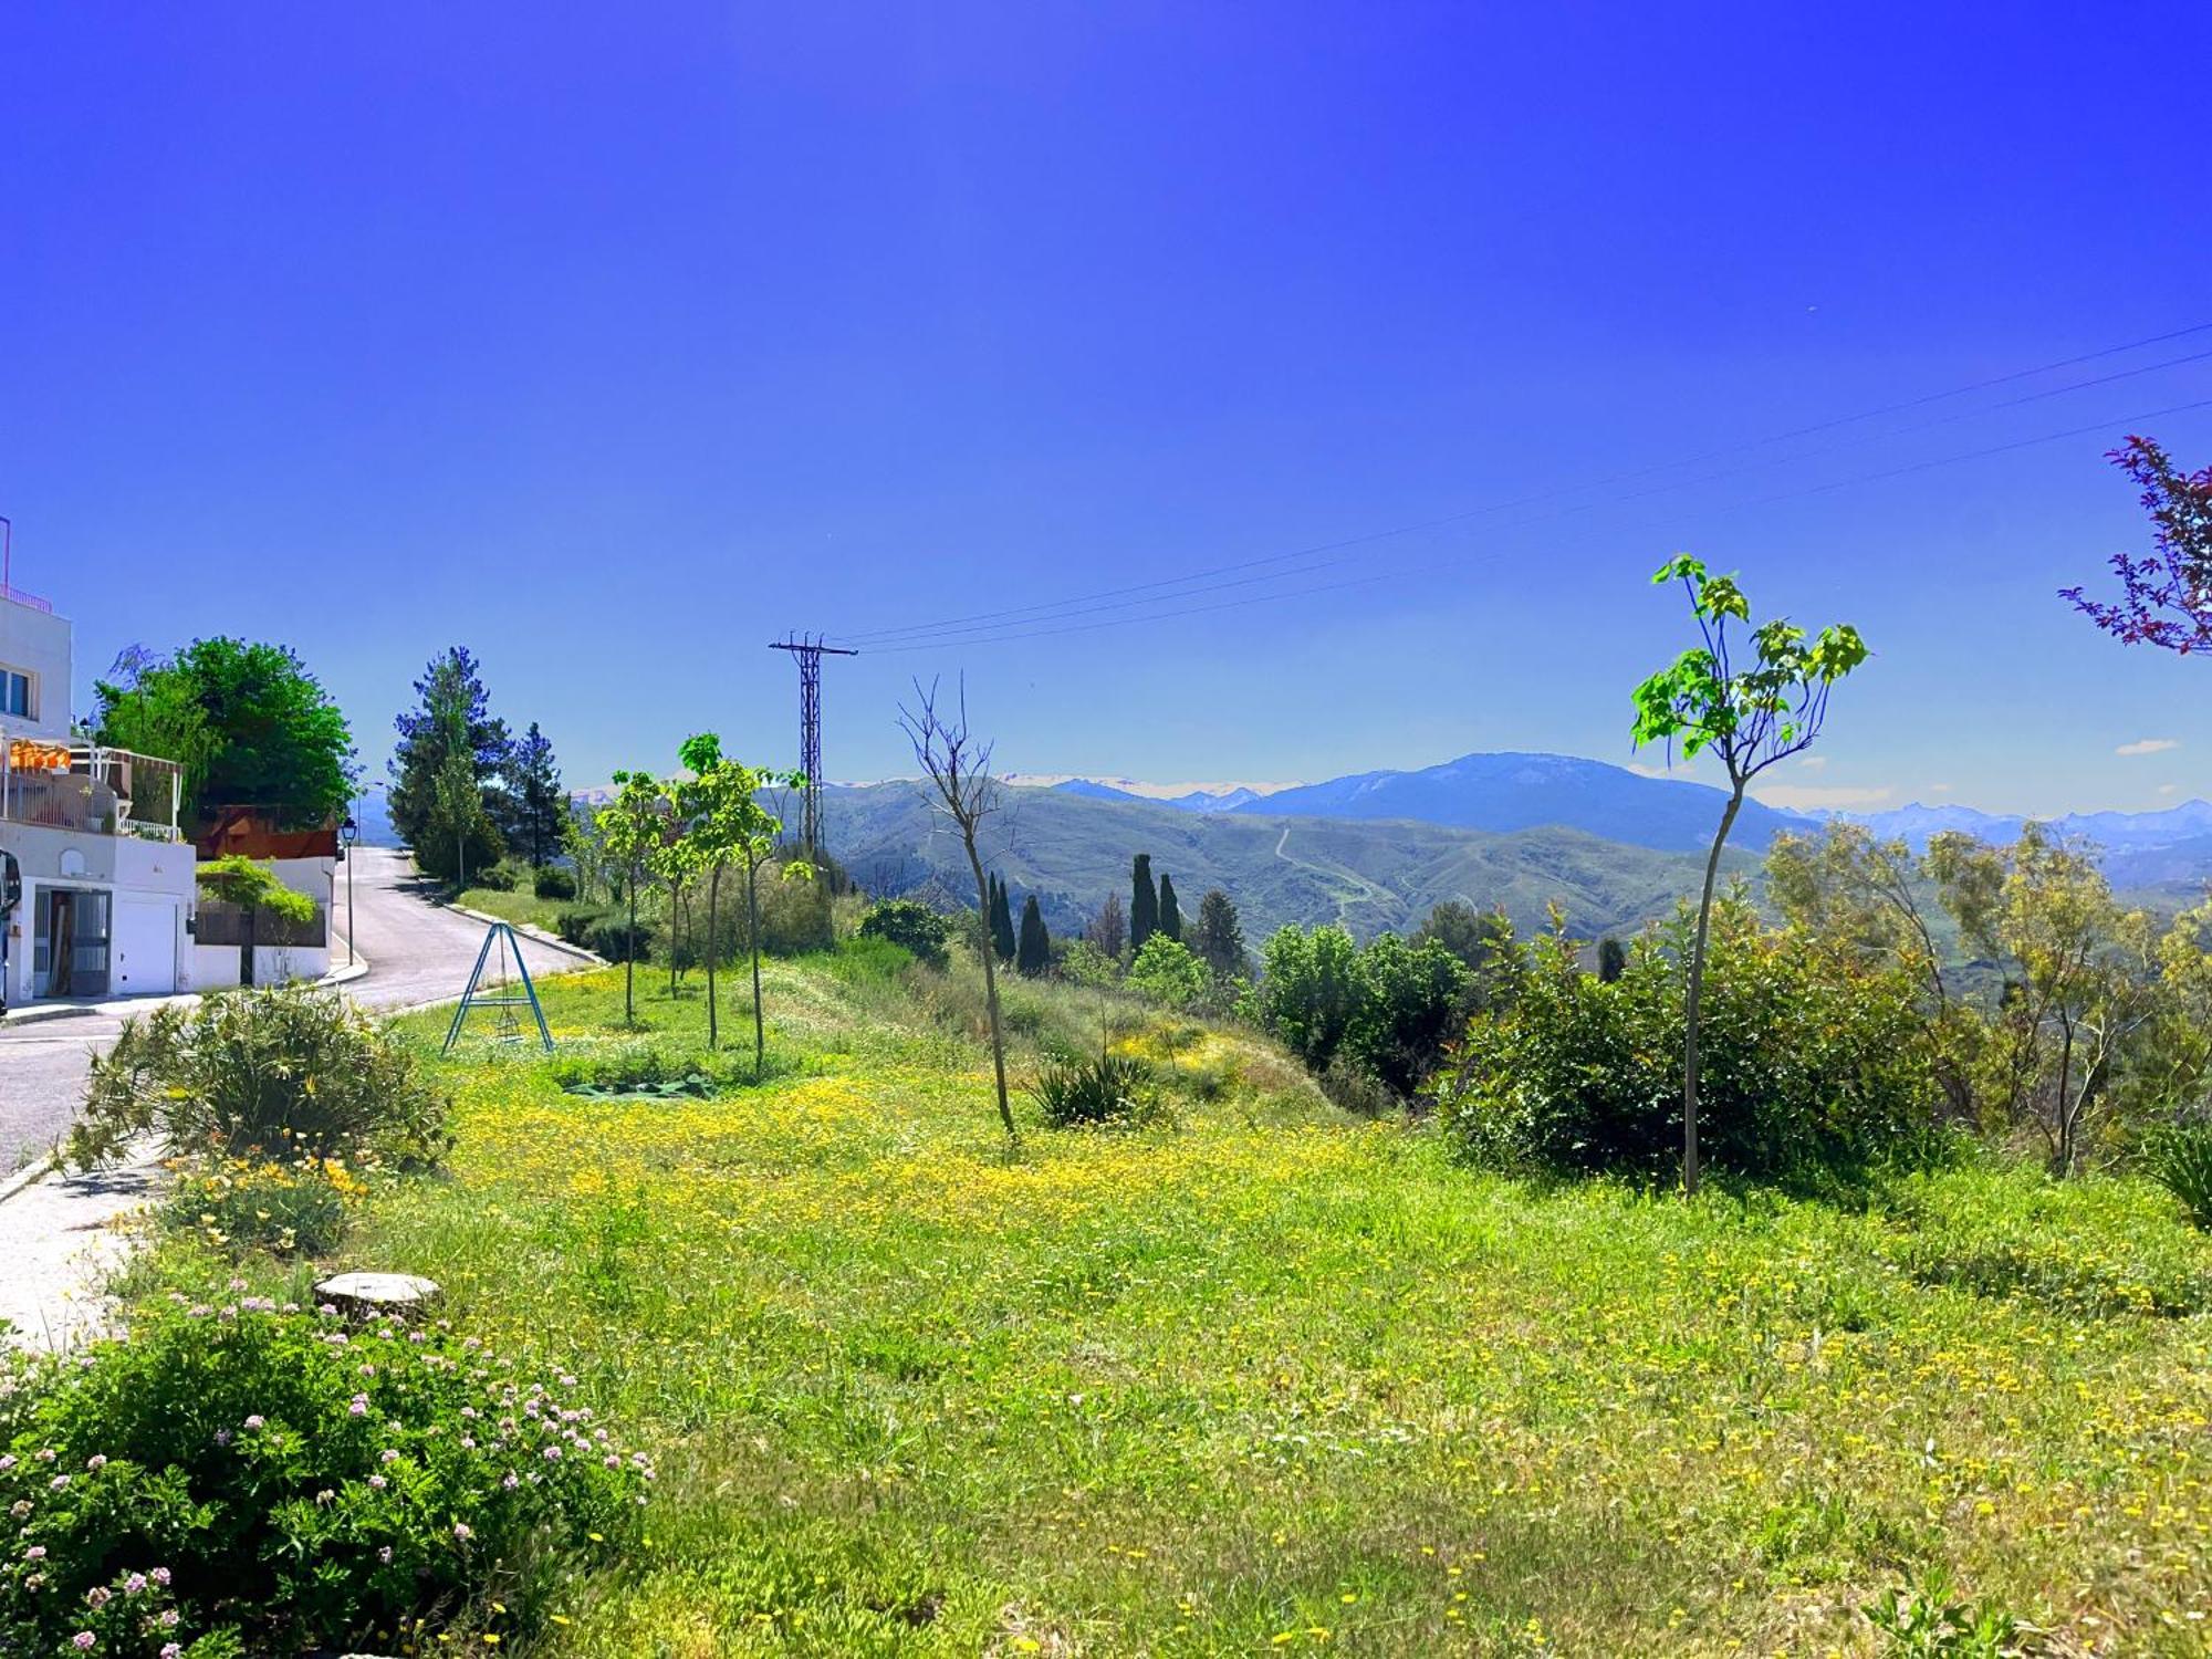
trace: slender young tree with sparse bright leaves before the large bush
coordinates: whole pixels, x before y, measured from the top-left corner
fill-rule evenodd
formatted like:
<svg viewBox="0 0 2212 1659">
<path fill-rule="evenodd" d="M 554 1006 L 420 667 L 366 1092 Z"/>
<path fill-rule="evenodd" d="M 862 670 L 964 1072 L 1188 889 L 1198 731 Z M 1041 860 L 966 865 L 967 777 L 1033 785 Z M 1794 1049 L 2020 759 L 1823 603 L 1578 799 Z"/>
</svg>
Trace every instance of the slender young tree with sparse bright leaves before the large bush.
<svg viewBox="0 0 2212 1659">
<path fill-rule="evenodd" d="M 1697 936 L 1690 947 L 1690 984 L 1681 1062 L 1681 1186 L 1697 1192 L 1697 1006 L 1705 982 L 1705 940 L 1712 929 L 1712 887 L 1721 874 L 1721 849 L 1743 810 L 1743 794 L 1761 772 L 1812 748 L 1827 719 L 1827 695 L 1838 679 L 1867 659 L 1867 646 L 1851 624 L 1832 624 L 1807 639 L 1803 628 L 1776 617 L 1752 624 L 1750 599 L 1732 575 L 1710 575 L 1688 553 L 1668 560 L 1655 584 L 1681 582 L 1701 644 L 1681 653 L 1635 690 L 1637 748 L 1666 743 L 1683 759 L 1712 750 L 1728 770 L 1728 805 L 1705 856 L 1705 885 L 1697 900 Z M 1730 639 L 1730 624 L 1741 628 Z M 1750 659 L 1739 657 L 1750 648 Z"/>
</svg>

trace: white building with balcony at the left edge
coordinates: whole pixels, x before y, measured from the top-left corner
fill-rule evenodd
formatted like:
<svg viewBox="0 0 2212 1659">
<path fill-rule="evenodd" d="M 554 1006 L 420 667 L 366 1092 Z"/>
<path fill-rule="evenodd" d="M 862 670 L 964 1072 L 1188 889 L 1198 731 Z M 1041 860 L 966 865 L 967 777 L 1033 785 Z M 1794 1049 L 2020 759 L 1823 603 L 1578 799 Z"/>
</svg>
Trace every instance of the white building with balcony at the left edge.
<svg viewBox="0 0 2212 1659">
<path fill-rule="evenodd" d="M 0 586 L 0 1002 L 195 989 L 170 761 L 71 743 L 73 637 Z M 7 900 L 13 898 L 9 905 Z"/>
</svg>

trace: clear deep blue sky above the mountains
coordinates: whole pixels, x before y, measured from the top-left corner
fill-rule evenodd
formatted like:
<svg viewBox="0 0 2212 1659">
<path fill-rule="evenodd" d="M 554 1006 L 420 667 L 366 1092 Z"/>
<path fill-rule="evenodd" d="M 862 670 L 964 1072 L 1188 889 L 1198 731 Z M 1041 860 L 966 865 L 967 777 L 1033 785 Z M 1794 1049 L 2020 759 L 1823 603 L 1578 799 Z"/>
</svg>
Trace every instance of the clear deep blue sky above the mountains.
<svg viewBox="0 0 2212 1659">
<path fill-rule="evenodd" d="M 84 681 L 283 639 L 380 761 L 458 639 L 586 783 L 708 726 L 790 763 L 785 628 L 1170 584 L 832 664 L 830 774 L 962 670 L 1029 772 L 1628 761 L 1690 549 L 1878 653 L 1792 801 L 2212 794 L 2212 666 L 2053 597 L 2146 540 L 2130 425 L 2212 460 L 2212 407 L 2130 420 L 2212 400 L 2212 330 L 1763 442 L 2212 323 L 2201 4 L 33 4 L 0 51 L 0 513 Z"/>
</svg>

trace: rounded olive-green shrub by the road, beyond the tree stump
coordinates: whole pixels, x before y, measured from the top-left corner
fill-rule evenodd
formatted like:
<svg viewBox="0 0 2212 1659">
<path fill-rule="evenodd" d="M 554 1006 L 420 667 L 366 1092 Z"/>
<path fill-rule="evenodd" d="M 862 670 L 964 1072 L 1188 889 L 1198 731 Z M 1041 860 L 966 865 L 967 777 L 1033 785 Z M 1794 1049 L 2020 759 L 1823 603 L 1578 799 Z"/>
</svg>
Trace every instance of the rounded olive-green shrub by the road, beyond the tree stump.
<svg viewBox="0 0 2212 1659">
<path fill-rule="evenodd" d="M 124 1020 L 93 1060 L 69 1161 L 111 1164 L 148 1130 L 173 1152 L 436 1161 L 449 1099 L 336 991 L 226 991 Z"/>
</svg>

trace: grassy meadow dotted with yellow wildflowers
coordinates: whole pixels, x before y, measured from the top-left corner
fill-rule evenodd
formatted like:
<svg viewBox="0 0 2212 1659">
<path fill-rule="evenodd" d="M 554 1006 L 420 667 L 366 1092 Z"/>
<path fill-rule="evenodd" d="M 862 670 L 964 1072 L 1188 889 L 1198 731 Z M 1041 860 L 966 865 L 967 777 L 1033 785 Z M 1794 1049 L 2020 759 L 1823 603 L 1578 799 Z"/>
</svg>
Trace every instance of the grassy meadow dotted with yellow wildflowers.
<svg viewBox="0 0 2212 1659">
<path fill-rule="evenodd" d="M 635 1042 L 619 971 L 546 989 L 562 1062 Z M 639 1000 L 701 1040 L 695 987 Z M 1115 1040 L 1168 1121 L 1009 1150 L 975 1002 L 776 962 L 774 1075 L 710 1099 L 438 1062 L 451 1168 L 343 1263 L 431 1274 L 664 1471 L 531 1652 L 1858 1655 L 1938 1568 L 2042 1650 L 2205 1650 L 2212 1245 L 2157 1190 L 1533 1190 L 1157 1018 Z M 1029 1071 L 1126 1011 L 1009 1013 Z M 230 1272 L 197 1250 L 157 1272 Z"/>
</svg>

